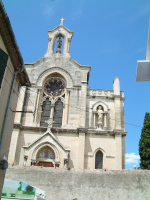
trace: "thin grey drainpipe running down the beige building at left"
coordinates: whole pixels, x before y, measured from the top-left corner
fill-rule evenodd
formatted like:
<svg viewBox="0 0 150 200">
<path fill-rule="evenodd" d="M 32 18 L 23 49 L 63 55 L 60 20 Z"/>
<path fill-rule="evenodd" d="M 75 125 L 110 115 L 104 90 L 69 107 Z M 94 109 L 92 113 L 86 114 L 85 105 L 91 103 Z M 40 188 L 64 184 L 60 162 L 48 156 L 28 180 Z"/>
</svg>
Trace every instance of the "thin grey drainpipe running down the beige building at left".
<svg viewBox="0 0 150 200">
<path fill-rule="evenodd" d="M 12 82 L 12 85 L 11 85 L 11 90 L 10 90 L 10 94 L 9 94 L 9 99 L 8 99 L 8 104 L 7 104 L 7 109 L 6 109 L 6 113 L 5 113 L 3 129 L 2 129 L 2 135 L 1 135 L 1 140 L 0 140 L 0 153 L 2 151 L 4 133 L 5 133 L 5 129 L 6 129 L 7 118 L 8 118 L 8 113 L 9 113 L 9 107 L 10 107 L 11 97 L 12 97 L 12 93 L 13 93 L 13 89 L 14 89 L 14 85 L 15 85 L 15 80 L 16 80 L 16 77 L 17 77 L 18 73 L 21 73 L 23 70 L 24 70 L 24 67 L 22 66 L 21 70 L 16 71 L 15 74 L 14 74 L 14 77 L 13 77 L 13 82 Z M 4 156 L 3 160 L 6 161 L 6 159 L 7 159 L 6 156 L 5 155 L 3 155 L 3 156 Z"/>
</svg>

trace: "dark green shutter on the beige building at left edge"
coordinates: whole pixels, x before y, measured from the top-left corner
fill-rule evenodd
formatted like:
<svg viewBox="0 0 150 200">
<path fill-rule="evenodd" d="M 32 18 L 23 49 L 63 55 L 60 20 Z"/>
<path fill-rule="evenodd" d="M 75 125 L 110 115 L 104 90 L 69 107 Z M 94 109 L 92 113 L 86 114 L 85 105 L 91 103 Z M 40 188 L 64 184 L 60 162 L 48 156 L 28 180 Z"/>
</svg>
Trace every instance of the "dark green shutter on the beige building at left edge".
<svg viewBox="0 0 150 200">
<path fill-rule="evenodd" d="M 0 88 L 7 65 L 8 55 L 0 48 Z"/>
</svg>

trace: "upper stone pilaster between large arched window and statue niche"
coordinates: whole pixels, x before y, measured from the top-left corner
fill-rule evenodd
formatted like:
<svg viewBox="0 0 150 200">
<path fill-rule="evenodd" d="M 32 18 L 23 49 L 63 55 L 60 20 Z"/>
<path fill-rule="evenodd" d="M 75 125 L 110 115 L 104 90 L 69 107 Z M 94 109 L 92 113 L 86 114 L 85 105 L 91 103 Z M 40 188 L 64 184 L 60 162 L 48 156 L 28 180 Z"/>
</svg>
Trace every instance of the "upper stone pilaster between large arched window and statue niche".
<svg viewBox="0 0 150 200">
<path fill-rule="evenodd" d="M 87 96 L 87 82 L 83 81 L 81 86 L 81 97 L 80 97 L 80 127 L 85 127 L 86 122 L 86 96 Z"/>
</svg>

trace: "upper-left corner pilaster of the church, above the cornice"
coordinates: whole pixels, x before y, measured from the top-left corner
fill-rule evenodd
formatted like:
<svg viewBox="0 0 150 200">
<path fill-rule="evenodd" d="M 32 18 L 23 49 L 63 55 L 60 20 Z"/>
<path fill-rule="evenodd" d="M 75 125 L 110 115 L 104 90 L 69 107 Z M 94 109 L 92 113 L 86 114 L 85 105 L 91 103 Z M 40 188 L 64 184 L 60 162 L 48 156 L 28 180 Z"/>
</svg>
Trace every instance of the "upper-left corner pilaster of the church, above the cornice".
<svg viewBox="0 0 150 200">
<path fill-rule="evenodd" d="M 23 86 L 20 88 L 16 111 L 23 111 L 25 95 L 26 95 L 26 87 Z M 14 122 L 21 123 L 21 118 L 22 118 L 22 112 L 16 112 Z"/>
</svg>

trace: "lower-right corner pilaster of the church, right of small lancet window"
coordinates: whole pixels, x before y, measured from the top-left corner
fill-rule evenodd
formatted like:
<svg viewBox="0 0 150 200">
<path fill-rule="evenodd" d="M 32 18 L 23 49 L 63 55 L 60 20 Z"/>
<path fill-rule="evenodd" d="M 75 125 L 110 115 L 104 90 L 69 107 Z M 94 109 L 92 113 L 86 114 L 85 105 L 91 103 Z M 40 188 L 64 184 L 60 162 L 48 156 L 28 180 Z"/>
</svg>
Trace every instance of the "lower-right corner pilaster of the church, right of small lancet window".
<svg viewBox="0 0 150 200">
<path fill-rule="evenodd" d="M 122 169 L 122 135 L 115 135 L 115 170 Z"/>
</svg>

